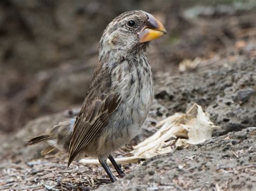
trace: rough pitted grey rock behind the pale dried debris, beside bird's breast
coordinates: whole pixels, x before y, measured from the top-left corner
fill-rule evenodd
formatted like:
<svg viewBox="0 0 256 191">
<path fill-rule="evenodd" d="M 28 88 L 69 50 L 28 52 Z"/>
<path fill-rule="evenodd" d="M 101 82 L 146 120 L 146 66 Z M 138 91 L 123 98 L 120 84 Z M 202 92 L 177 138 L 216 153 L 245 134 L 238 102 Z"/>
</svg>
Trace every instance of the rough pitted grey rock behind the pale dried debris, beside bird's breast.
<svg viewBox="0 0 256 191">
<path fill-rule="evenodd" d="M 241 57 L 222 62 L 227 65 L 198 69 L 180 77 L 158 74 L 155 97 L 169 115 L 185 112 L 193 103 L 200 104 L 213 123 L 221 127 L 214 132 L 215 136 L 255 126 L 256 60 Z"/>
</svg>

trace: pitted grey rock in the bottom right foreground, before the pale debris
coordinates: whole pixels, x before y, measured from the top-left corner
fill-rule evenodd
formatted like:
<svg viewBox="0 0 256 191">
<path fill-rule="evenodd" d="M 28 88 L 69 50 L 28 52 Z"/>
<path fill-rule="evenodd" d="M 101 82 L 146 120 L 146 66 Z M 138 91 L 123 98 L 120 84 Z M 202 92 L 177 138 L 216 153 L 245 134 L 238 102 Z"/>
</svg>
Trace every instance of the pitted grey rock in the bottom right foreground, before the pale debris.
<svg viewBox="0 0 256 191">
<path fill-rule="evenodd" d="M 116 183 L 97 190 L 253 190 L 256 128 L 213 137 L 185 150 L 143 162 Z"/>
</svg>

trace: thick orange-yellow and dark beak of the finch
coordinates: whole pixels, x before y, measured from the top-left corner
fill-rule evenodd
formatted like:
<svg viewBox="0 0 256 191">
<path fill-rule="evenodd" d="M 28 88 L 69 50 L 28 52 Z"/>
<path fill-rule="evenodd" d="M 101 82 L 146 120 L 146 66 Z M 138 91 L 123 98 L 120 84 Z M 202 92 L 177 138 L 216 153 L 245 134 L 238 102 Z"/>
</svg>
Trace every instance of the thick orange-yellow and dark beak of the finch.
<svg viewBox="0 0 256 191">
<path fill-rule="evenodd" d="M 165 27 L 156 18 L 154 18 L 154 16 L 150 13 L 147 13 L 147 16 L 149 16 L 149 19 L 145 23 L 142 31 L 138 33 L 140 43 L 157 39 L 166 34 Z"/>
</svg>

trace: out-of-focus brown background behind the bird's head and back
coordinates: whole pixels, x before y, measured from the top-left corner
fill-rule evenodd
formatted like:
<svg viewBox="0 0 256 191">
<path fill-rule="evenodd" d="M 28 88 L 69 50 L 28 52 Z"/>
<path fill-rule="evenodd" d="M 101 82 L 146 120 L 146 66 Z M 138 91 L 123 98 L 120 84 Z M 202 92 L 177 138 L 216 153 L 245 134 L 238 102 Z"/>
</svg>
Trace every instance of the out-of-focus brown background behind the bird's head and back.
<svg viewBox="0 0 256 191">
<path fill-rule="evenodd" d="M 1 0 L 0 132 L 79 107 L 103 30 L 134 9 L 152 13 L 168 31 L 149 48 L 153 73 L 191 73 L 198 61 L 256 56 L 253 0 Z"/>
</svg>

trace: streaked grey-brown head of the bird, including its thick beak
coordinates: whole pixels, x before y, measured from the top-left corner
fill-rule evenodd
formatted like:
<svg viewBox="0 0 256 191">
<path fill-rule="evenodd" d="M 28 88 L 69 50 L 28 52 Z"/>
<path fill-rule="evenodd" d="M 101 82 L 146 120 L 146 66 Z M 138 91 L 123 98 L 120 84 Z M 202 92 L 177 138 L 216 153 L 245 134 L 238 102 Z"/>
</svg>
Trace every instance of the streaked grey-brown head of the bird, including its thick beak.
<svg viewBox="0 0 256 191">
<path fill-rule="evenodd" d="M 124 12 L 107 25 L 99 44 L 100 56 L 144 52 L 149 41 L 166 33 L 164 26 L 145 11 Z M 123 56 L 124 56 L 123 55 Z"/>
</svg>

